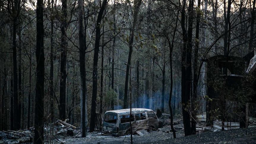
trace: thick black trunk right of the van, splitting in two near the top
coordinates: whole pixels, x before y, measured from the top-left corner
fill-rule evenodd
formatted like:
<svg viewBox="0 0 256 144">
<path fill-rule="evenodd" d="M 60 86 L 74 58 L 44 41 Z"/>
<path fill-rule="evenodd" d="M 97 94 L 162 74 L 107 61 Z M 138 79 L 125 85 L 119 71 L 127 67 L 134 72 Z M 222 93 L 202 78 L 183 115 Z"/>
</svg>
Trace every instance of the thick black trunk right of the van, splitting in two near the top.
<svg viewBox="0 0 256 144">
<path fill-rule="evenodd" d="M 183 1 L 182 12 L 181 12 L 181 28 L 183 36 L 183 51 L 181 59 L 181 103 L 182 103 L 182 114 L 183 114 L 183 124 L 185 136 L 191 135 L 191 125 L 190 125 L 190 114 L 188 112 L 189 100 L 190 100 L 190 90 L 191 90 L 191 51 L 192 51 L 192 9 L 193 0 L 189 0 L 189 18 L 188 18 L 188 31 L 186 29 L 186 15 L 185 7 L 186 1 Z"/>
</svg>

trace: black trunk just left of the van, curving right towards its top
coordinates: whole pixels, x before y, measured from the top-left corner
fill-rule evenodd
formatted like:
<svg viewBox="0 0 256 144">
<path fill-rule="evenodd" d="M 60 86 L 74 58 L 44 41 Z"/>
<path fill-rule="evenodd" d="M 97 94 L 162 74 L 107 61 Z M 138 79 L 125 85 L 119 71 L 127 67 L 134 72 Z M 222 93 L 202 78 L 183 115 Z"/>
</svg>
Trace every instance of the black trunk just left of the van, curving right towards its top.
<svg viewBox="0 0 256 144">
<path fill-rule="evenodd" d="M 90 129 L 89 132 L 94 131 L 95 117 L 96 117 L 96 99 L 97 99 L 97 82 L 98 82 L 98 57 L 99 57 L 99 43 L 100 43 L 100 23 L 105 10 L 107 0 L 102 2 L 99 10 L 97 23 L 96 23 L 96 39 L 95 49 L 93 56 L 93 76 L 92 76 L 92 97 L 91 97 L 91 118 L 90 118 Z"/>
</svg>

